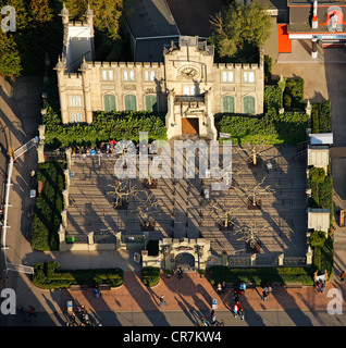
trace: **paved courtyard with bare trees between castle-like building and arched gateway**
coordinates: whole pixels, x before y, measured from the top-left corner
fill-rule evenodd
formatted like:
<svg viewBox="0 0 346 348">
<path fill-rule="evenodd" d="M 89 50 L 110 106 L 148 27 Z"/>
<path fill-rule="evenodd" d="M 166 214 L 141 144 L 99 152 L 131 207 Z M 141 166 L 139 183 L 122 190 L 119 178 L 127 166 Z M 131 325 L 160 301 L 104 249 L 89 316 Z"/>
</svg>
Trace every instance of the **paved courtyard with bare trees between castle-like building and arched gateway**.
<svg viewBox="0 0 346 348">
<path fill-rule="evenodd" d="M 249 146 L 233 146 L 232 157 L 233 183 L 226 190 L 212 191 L 214 178 L 200 179 L 198 173 L 195 178 L 186 178 L 186 171 L 184 178 L 159 178 L 157 187 L 150 189 L 136 178 L 126 184 L 135 187 L 135 194 L 128 196 L 127 209 L 122 210 L 112 208 L 118 158 L 74 156 L 66 234 L 79 243 L 86 243 L 90 232 L 96 243 L 112 243 L 118 232 L 141 236 L 143 206 L 149 195 L 157 203 L 148 208 L 156 222 L 150 239 L 205 237 L 211 241 L 213 254 L 246 254 L 252 231 L 261 246 L 259 256 L 267 261 L 282 252 L 286 257 L 304 256 L 306 165 L 296 160 L 296 147 L 261 146 L 256 166 L 249 163 Z M 248 199 L 254 194 L 260 201 L 258 210 L 249 209 Z M 233 228 L 220 227 L 226 220 Z"/>
</svg>

